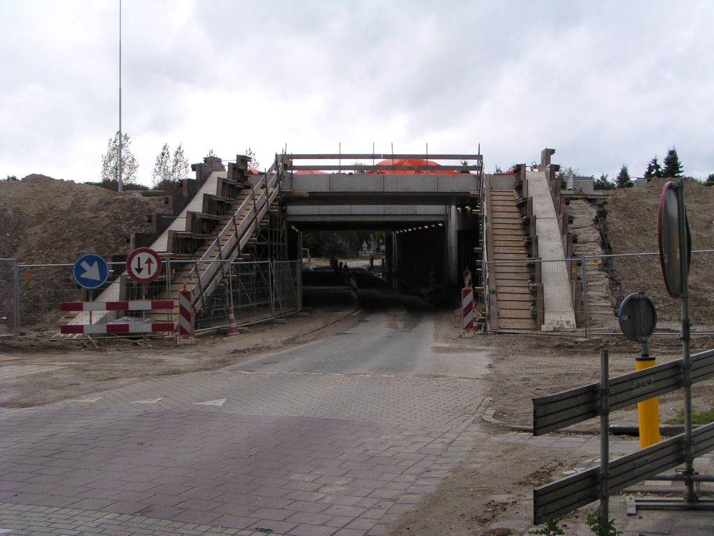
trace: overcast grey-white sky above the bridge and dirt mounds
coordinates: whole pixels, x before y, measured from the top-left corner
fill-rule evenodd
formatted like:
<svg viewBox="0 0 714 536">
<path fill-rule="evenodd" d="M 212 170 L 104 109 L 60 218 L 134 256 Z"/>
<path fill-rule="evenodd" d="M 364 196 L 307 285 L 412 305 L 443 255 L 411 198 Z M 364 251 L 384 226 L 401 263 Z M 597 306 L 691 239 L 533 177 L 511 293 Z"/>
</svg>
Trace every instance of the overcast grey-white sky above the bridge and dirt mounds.
<svg viewBox="0 0 714 536">
<path fill-rule="evenodd" d="M 99 179 L 118 129 L 119 1 L 0 0 L 0 176 Z M 714 173 L 711 1 L 122 2 L 123 130 L 151 182 L 288 152 L 476 152 Z"/>
</svg>

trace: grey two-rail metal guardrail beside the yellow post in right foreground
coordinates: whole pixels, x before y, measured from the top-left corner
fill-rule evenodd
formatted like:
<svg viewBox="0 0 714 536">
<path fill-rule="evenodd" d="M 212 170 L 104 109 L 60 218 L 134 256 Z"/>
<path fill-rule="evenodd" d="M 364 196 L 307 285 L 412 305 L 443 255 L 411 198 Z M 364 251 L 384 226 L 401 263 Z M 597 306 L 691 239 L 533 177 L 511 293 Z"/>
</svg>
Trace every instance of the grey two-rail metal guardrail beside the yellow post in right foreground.
<svg viewBox="0 0 714 536">
<path fill-rule="evenodd" d="M 714 377 L 714 350 L 685 359 L 648 367 L 630 374 L 608 378 L 607 350 L 602 350 L 601 379 L 598 383 L 533 399 L 533 435 L 553 432 L 577 422 L 600 416 L 600 467 L 551 482 L 533 490 L 533 522 L 545 516 L 562 515 L 600 499 L 607 509 L 611 493 L 647 480 L 714 448 L 714 423 L 699 427 L 633 454 L 609 461 L 608 415 L 611 411 L 688 387 Z M 688 475 L 691 475 L 688 473 Z M 688 486 L 691 476 L 688 476 Z"/>
</svg>

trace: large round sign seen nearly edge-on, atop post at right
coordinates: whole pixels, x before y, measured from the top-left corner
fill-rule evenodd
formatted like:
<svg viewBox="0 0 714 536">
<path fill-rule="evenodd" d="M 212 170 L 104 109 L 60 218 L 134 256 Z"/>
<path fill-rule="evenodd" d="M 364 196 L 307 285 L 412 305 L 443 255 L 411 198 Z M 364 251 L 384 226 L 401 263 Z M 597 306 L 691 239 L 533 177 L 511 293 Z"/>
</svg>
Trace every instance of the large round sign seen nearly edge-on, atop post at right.
<svg viewBox="0 0 714 536">
<path fill-rule="evenodd" d="M 668 182 L 660 196 L 660 210 L 657 217 L 657 234 L 660 246 L 660 266 L 665 279 L 667 292 L 673 298 L 678 298 L 683 292 L 682 255 L 687 255 L 687 272 L 692 258 L 692 236 L 689 232 L 687 210 L 680 216 L 679 196 L 684 196 L 682 183 Z M 682 199 L 684 206 L 684 199 Z M 686 229 L 686 244 L 680 244 L 679 224 L 684 219 Z"/>
</svg>

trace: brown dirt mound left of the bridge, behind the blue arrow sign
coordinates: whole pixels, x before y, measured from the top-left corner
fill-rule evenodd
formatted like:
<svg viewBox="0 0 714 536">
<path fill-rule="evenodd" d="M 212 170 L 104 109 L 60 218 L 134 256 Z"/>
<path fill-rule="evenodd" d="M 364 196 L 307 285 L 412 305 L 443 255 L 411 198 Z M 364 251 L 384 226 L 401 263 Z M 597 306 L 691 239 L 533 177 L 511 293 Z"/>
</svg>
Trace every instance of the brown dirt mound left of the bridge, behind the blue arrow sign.
<svg viewBox="0 0 714 536">
<path fill-rule="evenodd" d="M 21 264 L 74 262 L 79 255 L 129 253 L 129 235 L 149 232 L 161 197 L 28 175 L 0 182 L 0 256 Z"/>
</svg>

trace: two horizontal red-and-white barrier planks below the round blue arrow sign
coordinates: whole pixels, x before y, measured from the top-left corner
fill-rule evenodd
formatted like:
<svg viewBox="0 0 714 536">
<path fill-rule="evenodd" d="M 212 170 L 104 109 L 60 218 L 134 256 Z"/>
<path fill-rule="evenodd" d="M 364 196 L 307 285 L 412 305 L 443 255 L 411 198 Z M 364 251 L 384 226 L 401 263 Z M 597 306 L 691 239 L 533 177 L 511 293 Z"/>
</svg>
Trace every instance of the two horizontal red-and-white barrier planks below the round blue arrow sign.
<svg viewBox="0 0 714 536">
<path fill-rule="evenodd" d="M 160 311 L 174 309 L 173 299 L 142 299 L 129 302 L 62 302 L 59 310 L 69 311 Z M 66 324 L 59 327 L 64 334 L 157 333 L 174 332 L 174 322 L 147 324 Z"/>
</svg>

